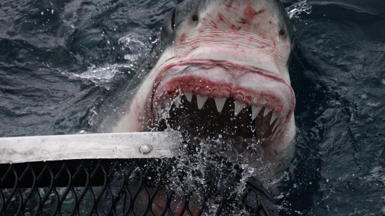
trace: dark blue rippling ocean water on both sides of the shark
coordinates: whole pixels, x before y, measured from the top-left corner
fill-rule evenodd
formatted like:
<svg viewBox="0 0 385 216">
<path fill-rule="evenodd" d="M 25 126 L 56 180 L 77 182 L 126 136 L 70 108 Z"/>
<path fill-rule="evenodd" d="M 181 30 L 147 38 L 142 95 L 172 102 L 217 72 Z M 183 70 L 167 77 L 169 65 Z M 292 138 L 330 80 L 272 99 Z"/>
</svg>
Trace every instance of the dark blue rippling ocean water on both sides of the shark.
<svg viewBox="0 0 385 216">
<path fill-rule="evenodd" d="M 0 137 L 96 131 L 151 68 L 177 3 L 1 0 Z M 299 131 L 276 198 L 283 215 L 385 215 L 385 1 L 310 3 L 292 20 Z"/>
</svg>

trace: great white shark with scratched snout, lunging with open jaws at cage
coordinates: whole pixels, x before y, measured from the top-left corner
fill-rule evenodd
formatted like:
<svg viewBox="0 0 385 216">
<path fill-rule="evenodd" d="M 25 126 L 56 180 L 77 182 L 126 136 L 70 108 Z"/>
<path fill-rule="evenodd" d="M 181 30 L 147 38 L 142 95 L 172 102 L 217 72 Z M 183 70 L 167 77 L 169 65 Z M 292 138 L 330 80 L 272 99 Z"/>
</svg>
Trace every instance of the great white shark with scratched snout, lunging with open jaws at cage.
<svg viewBox="0 0 385 216">
<path fill-rule="evenodd" d="M 255 136 L 265 152 L 283 152 L 296 131 L 294 48 L 280 0 L 185 0 L 164 19 L 162 53 L 108 132 L 167 124 L 196 135 Z"/>
</svg>

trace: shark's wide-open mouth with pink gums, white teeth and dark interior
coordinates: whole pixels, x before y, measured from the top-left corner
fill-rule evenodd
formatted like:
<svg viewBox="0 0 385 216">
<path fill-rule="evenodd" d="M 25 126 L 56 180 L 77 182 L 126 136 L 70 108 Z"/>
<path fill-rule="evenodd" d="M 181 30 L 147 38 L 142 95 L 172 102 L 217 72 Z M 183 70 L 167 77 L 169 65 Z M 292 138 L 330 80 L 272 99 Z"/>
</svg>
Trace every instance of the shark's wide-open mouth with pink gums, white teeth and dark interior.
<svg viewBox="0 0 385 216">
<path fill-rule="evenodd" d="M 157 77 L 150 120 L 198 136 L 272 141 L 295 107 L 291 86 L 276 72 L 228 61 L 191 60 L 166 66 Z"/>
</svg>

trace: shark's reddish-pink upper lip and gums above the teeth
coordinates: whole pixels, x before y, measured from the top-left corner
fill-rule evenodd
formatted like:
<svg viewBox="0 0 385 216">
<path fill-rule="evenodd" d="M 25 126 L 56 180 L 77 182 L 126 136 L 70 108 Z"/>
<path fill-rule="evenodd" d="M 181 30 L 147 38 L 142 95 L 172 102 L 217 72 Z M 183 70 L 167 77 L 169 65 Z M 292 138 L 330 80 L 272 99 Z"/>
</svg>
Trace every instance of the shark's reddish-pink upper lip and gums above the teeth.
<svg viewBox="0 0 385 216">
<path fill-rule="evenodd" d="M 191 71 L 188 70 L 189 66 L 193 67 Z M 196 69 L 197 67 L 199 68 Z M 219 70 L 215 69 L 216 67 L 219 67 Z M 222 70 L 221 68 L 226 69 Z M 227 72 L 223 73 L 222 71 Z M 218 77 L 218 74 L 222 74 L 223 79 L 210 79 L 210 72 L 216 77 Z M 232 78 L 239 77 L 245 77 L 249 81 L 253 81 L 254 77 L 255 80 L 262 81 L 261 83 L 255 83 L 255 85 L 266 85 L 264 83 L 275 82 L 279 86 L 279 90 L 286 92 L 285 96 L 289 98 L 287 98 L 287 101 L 283 101 L 283 97 L 277 97 L 277 90 L 273 88 L 254 90 L 239 85 L 240 83 L 235 83 L 232 80 Z M 268 107 L 274 110 L 277 115 L 286 115 L 286 122 L 290 120 L 295 107 L 293 89 L 279 75 L 226 61 L 191 60 L 172 63 L 161 71 L 156 79 L 156 86 L 157 88 L 154 89 L 152 95 L 152 113 L 156 113 L 155 104 L 161 104 L 161 101 L 168 98 L 175 98 L 180 93 L 193 93 L 210 98 L 233 97 L 234 100 L 240 103 Z"/>
</svg>

